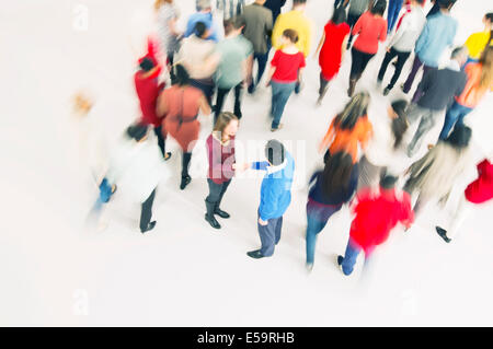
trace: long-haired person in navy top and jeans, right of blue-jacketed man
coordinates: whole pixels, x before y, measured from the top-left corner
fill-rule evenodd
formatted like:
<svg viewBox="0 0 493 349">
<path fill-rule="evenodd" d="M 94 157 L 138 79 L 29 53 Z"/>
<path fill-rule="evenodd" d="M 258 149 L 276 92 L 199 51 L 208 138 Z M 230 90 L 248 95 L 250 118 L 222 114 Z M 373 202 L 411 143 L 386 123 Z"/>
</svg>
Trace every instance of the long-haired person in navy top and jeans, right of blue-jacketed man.
<svg viewBox="0 0 493 349">
<path fill-rule="evenodd" d="M 311 271 L 318 234 L 344 203 L 348 202 L 358 184 L 358 165 L 349 154 L 337 152 L 330 156 L 323 171 L 310 178 L 307 203 L 307 269 Z"/>
</svg>

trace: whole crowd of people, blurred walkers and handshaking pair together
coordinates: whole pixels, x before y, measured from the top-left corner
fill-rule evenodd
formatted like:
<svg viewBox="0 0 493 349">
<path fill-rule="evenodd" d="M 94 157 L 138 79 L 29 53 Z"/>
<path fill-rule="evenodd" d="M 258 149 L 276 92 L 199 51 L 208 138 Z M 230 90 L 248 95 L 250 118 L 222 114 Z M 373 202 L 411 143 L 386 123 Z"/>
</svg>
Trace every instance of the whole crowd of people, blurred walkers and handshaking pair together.
<svg viewBox="0 0 493 349">
<path fill-rule="evenodd" d="M 182 33 L 177 27 L 179 4 L 157 0 L 158 39 L 148 39 L 147 53 L 138 61 L 134 80 L 141 117 L 127 128 L 111 158 L 100 183 L 96 209 L 116 191 L 131 194 L 141 203 L 141 233 L 152 230 L 157 223 L 152 220 L 152 203 L 158 184 L 171 176 L 165 164 L 172 156 L 165 149 L 167 138 L 172 137 L 182 149 L 180 189 L 184 190 L 192 181 L 188 168 L 202 114 L 214 118 L 213 131 L 206 140 L 209 193 L 205 198 L 205 221 L 221 229 L 216 218 L 230 218 L 221 209 L 221 201 L 232 178 L 249 170 L 264 172 L 257 210 L 261 247 L 248 252 L 248 256 L 255 259 L 272 256 L 291 201 L 295 160 L 280 141 L 272 139 L 266 141 L 265 159 L 238 163 L 234 141 L 243 116 L 244 89 L 254 94 L 266 74 L 266 86 L 272 90 L 272 132 L 283 128 L 280 120 L 291 94 L 302 93 L 303 69 L 313 39 L 313 24 L 306 14 L 307 1 L 293 0 L 293 9 L 283 12 L 285 0 L 255 0 L 252 4 L 217 0 L 216 10 L 210 0 L 197 0 L 196 13 L 188 18 Z M 309 181 L 308 270 L 314 264 L 318 234 L 344 206 L 351 208 L 354 219 L 346 251 L 336 263 L 344 275 L 351 275 L 358 254 L 363 252 L 368 259 L 398 224 L 409 231 L 425 205 L 435 201 L 445 206 L 457 179 L 473 166 L 472 130 L 466 121 L 493 88 L 493 14 L 485 14 L 483 32 L 473 33 L 465 45 L 452 47 L 459 25 L 450 15 L 456 1 L 433 1 L 427 16 L 425 2 L 334 1 L 333 15 L 314 50 L 320 66 L 317 105 L 321 106 L 330 95 L 331 81 L 347 59 L 348 49 L 349 100 L 328 126 L 319 146 L 323 168 Z M 219 14 L 223 19 L 223 37 L 215 20 Z M 368 116 L 370 94 L 356 92 L 356 84 L 383 43 L 386 54 L 375 77 L 377 86 L 381 86 L 389 65 L 397 58 L 390 82 L 380 90 L 383 95 L 394 88 L 413 54 L 411 71 L 401 86 L 403 93 L 411 92 L 421 68 L 423 78 L 412 98 L 388 102 L 388 117 L 374 128 Z M 446 49 L 451 51 L 450 59 L 440 66 Z M 231 90 L 233 110 L 225 112 Z M 84 101 L 78 100 L 78 104 L 83 108 L 80 105 Z M 444 126 L 437 143 L 428 144 L 426 154 L 414 159 L 424 150 L 425 136 L 439 123 Z M 414 135 L 409 135 L 415 125 Z M 157 143 L 153 137 L 148 138 L 150 131 Z M 412 136 L 410 142 L 405 141 L 406 136 Z M 490 160 L 486 158 L 478 165 L 479 177 L 465 189 L 449 226 L 436 226 L 436 233 L 445 242 L 460 231 L 473 203 L 493 198 Z M 400 178 L 405 179 L 403 188 L 399 186 Z"/>
</svg>

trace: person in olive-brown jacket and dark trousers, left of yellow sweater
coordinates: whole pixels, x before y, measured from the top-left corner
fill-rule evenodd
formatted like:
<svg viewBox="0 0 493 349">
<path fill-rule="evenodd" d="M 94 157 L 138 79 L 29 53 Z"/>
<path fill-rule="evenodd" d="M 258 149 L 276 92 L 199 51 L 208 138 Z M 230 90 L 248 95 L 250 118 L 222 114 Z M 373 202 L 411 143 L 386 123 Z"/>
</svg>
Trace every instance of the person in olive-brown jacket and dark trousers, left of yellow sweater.
<svg viewBox="0 0 493 349">
<path fill-rule="evenodd" d="M 244 8 L 245 27 L 243 35 L 253 45 L 253 62 L 257 62 L 256 82 L 252 78 L 249 85 L 249 93 L 255 91 L 264 74 L 268 60 L 268 39 L 272 35 L 273 18 L 272 11 L 264 7 L 265 0 L 255 0 L 252 4 Z M 250 68 L 253 71 L 253 67 Z"/>
</svg>

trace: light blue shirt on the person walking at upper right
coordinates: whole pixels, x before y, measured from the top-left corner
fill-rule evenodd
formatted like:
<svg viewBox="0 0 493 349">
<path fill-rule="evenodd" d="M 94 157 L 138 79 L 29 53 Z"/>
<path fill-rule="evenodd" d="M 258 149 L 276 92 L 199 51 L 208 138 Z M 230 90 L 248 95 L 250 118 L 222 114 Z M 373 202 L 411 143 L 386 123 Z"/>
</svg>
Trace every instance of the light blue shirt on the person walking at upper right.
<svg viewBox="0 0 493 349">
<path fill-rule="evenodd" d="M 432 15 L 416 42 L 415 53 L 428 67 L 437 68 L 445 48 L 454 44 L 457 21 L 448 14 L 438 12 Z"/>
</svg>

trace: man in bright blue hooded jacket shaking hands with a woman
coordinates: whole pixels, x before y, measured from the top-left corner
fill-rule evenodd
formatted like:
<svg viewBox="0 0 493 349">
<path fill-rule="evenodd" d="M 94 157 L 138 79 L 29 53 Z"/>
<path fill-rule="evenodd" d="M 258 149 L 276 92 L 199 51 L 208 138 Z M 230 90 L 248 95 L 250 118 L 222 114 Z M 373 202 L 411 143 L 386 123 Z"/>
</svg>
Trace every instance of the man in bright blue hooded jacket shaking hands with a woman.
<svg viewBox="0 0 493 349">
<path fill-rule="evenodd" d="M 295 161 L 279 141 L 267 142 L 265 158 L 267 161 L 254 162 L 250 166 L 252 170 L 266 171 L 262 181 L 257 223 L 262 247 L 246 253 L 255 259 L 272 256 L 280 240 L 283 214 L 291 202 L 295 173 Z"/>
</svg>

